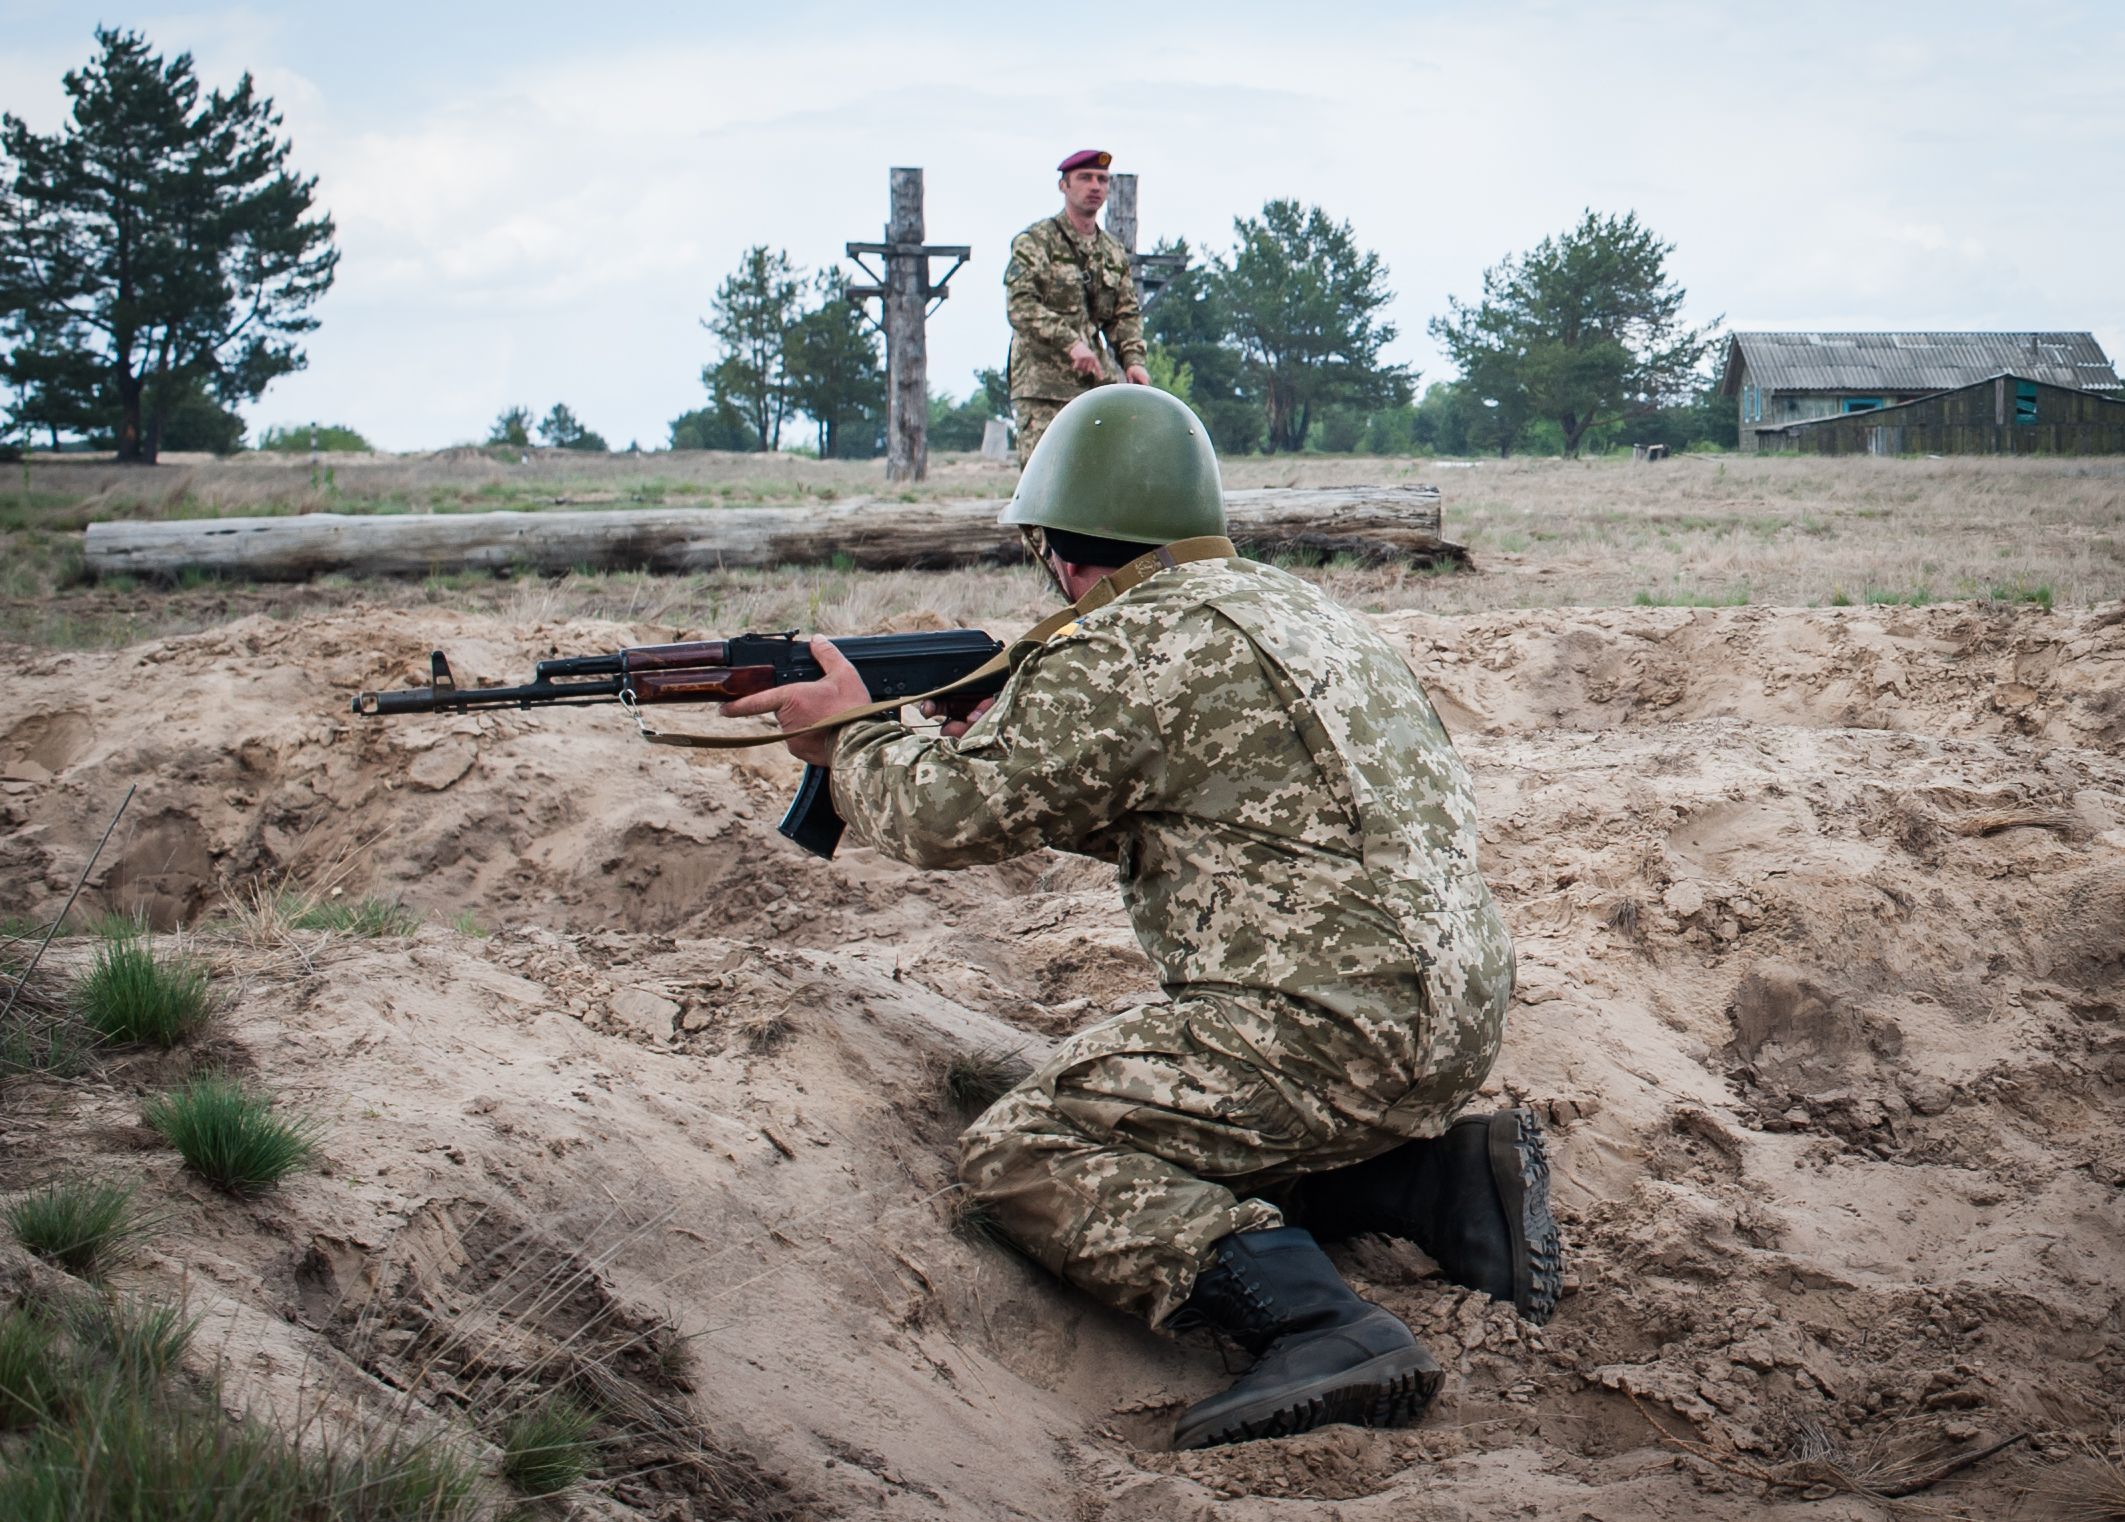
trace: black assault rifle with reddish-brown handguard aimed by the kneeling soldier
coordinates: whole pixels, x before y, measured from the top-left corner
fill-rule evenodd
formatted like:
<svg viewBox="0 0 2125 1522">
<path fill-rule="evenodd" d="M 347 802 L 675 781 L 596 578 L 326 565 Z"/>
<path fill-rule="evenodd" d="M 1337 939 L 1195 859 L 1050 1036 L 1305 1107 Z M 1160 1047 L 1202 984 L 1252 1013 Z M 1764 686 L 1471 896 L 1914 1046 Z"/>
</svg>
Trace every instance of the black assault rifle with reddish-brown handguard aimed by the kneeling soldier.
<svg viewBox="0 0 2125 1522">
<path fill-rule="evenodd" d="M 980 629 L 937 629 L 924 633 L 861 633 L 835 640 L 835 648 L 863 676 L 871 699 L 890 706 L 950 687 L 980 670 L 1003 644 Z M 638 644 L 612 655 L 561 655 L 540 661 L 523 687 L 459 687 L 450 663 L 429 657 L 427 687 L 395 693 L 357 693 L 355 712 L 468 714 L 480 708 L 563 708 L 578 704 L 620 704 L 633 714 L 642 735 L 665 744 L 754 744 L 756 738 L 703 740 L 657 735 L 635 712 L 648 704 L 720 704 L 765 693 L 769 687 L 816 682 L 822 676 L 808 644 L 795 629 L 782 633 L 740 633 L 731 640 L 688 640 L 684 644 Z M 952 687 L 939 697 L 946 716 L 965 718 L 984 697 L 1001 691 L 999 667 Z M 763 735 L 771 738 L 771 735 Z M 808 765 L 797 797 L 778 829 L 816 857 L 831 857 L 842 840 L 842 816 L 833 810 L 827 767 Z"/>
</svg>

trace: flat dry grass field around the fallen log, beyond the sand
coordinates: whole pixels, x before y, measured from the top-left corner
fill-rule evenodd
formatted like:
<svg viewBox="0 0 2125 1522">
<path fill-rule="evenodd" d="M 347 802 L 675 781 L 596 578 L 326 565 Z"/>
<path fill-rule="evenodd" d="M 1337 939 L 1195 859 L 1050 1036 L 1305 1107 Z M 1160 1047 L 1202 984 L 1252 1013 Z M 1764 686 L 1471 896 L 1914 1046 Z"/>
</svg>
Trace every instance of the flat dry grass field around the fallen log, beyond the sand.
<svg viewBox="0 0 2125 1522">
<path fill-rule="evenodd" d="M 306 616 L 357 602 L 463 608 L 525 621 L 614 619 L 669 631 L 846 633 L 939 616 L 1016 631 L 1046 612 L 1031 568 L 858 574 L 780 568 L 691 576 L 427 580 L 304 587 L 193 582 L 144 597 L 79 585 L 79 529 L 96 517 L 302 510 L 482 510 L 631 504 L 1001 497 L 1014 472 L 933 459 L 912 493 L 880 461 L 763 455 L 561 455 L 482 451 L 338 457 L 310 487 L 302 457 L 172 463 L 153 472 L 32 461 L 0 489 L 0 638 L 108 648 L 244 614 Z M 1560 606 L 1834 606 L 1995 599 L 2078 608 L 2125 597 L 2125 459 L 1628 459 L 1428 461 L 1286 455 L 1226 463 L 1230 487 L 1428 480 L 1445 493 L 1460 574 L 1330 563 L 1296 568 L 1368 612 L 1443 614 Z"/>
</svg>

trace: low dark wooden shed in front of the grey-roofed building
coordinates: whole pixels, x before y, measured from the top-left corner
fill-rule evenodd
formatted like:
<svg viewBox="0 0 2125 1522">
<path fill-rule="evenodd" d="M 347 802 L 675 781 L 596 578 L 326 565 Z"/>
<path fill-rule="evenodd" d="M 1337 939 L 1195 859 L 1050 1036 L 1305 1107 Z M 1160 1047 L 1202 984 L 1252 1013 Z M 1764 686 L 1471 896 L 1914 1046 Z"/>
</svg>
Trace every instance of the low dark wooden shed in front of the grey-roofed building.
<svg viewBox="0 0 2125 1522">
<path fill-rule="evenodd" d="M 2000 372 L 1893 406 L 1757 432 L 1800 455 L 2125 455 L 2125 400 Z"/>
</svg>

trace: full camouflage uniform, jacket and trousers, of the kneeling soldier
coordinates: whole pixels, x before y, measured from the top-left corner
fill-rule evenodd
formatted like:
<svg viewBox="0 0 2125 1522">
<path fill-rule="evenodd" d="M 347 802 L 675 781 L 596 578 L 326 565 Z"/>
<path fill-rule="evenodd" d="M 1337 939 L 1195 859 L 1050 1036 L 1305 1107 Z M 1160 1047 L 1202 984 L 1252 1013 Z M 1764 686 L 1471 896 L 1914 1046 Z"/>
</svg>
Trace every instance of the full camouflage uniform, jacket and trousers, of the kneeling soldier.
<svg viewBox="0 0 2125 1522">
<path fill-rule="evenodd" d="M 1065 1042 L 960 1139 L 1052 1271 L 1158 1324 L 1258 1190 L 1436 1135 L 1498 1052 L 1513 944 L 1409 665 L 1309 582 L 1158 572 L 1026 646 L 963 738 L 848 725 L 850 833 L 918 867 L 1116 863 L 1169 995 Z"/>
</svg>

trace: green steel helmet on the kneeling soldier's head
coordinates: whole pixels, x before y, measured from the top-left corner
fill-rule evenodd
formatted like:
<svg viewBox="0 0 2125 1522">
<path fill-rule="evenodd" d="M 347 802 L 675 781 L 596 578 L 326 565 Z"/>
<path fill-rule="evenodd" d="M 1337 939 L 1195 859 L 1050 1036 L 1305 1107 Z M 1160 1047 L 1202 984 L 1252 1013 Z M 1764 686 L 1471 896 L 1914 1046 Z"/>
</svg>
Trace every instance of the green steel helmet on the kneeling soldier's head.
<svg viewBox="0 0 2125 1522">
<path fill-rule="evenodd" d="M 1203 419 L 1148 385 L 1103 385 L 1056 412 L 999 523 L 1133 544 L 1224 534 Z"/>
</svg>

